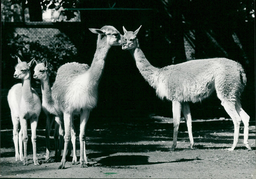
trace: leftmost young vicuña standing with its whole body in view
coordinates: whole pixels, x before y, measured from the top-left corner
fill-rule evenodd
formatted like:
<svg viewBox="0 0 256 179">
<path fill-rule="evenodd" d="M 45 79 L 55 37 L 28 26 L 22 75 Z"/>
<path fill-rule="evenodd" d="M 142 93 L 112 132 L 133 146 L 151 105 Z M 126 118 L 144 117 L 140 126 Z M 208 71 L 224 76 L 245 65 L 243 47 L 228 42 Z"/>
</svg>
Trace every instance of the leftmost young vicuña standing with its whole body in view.
<svg viewBox="0 0 256 179">
<path fill-rule="evenodd" d="M 13 141 L 15 146 L 15 158 L 19 159 L 18 140 L 20 148 L 20 160 L 24 160 L 24 165 L 28 165 L 27 144 L 28 131 L 27 122 L 30 119 L 31 124 L 31 140 L 33 145 L 34 164 L 39 166 L 36 157 L 36 126 L 38 116 L 41 112 L 41 101 L 36 91 L 31 87 L 30 67 L 34 63 L 34 59 L 29 63 L 21 62 L 18 57 L 18 64 L 15 66 L 14 78 L 21 79 L 22 83 L 13 85 L 9 90 L 7 100 L 11 109 L 13 124 Z M 18 128 L 20 123 L 20 132 Z M 24 158 L 22 154 L 22 140 L 24 145 Z"/>
</svg>

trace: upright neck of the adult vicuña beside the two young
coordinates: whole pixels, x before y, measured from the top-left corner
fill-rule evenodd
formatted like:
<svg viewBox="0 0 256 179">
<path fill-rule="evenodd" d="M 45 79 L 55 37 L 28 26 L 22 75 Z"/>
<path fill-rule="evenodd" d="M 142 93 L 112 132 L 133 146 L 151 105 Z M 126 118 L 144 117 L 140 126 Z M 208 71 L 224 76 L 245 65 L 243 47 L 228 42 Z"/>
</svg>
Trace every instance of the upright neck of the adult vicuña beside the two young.
<svg viewBox="0 0 256 179">
<path fill-rule="evenodd" d="M 90 81 L 95 85 L 98 85 L 100 82 L 100 78 L 105 66 L 105 59 L 110 47 L 111 46 L 108 45 L 106 41 L 106 35 L 99 35 L 96 52 L 94 54 L 91 67 L 88 71 L 90 73 Z"/>
</svg>

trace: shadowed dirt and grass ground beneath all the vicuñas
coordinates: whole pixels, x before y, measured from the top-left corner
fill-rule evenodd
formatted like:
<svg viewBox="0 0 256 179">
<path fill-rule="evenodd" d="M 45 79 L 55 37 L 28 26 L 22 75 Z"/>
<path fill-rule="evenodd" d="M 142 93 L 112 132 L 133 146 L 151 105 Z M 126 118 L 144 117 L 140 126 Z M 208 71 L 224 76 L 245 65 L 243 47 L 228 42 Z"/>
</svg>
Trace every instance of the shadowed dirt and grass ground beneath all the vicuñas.
<svg viewBox="0 0 256 179">
<path fill-rule="evenodd" d="M 241 125 L 238 145 L 232 152 L 225 150 L 233 143 L 234 127 L 230 120 L 193 121 L 194 150 L 188 149 L 186 124 L 181 123 L 178 144 L 173 152 L 169 152 L 173 124 L 162 121 L 88 125 L 88 168 L 72 165 L 72 157 L 68 157 L 66 168 L 57 169 L 60 162 L 54 162 L 53 151 L 50 160 L 44 161 L 43 129 L 37 130 L 40 166 L 33 164 L 31 140 L 28 142 L 29 165 L 23 166 L 22 162 L 15 162 L 12 130 L 1 130 L 1 178 L 256 178 L 255 121 L 249 126 L 252 151 L 243 146 Z M 78 135 L 79 131 L 77 148 Z M 54 150 L 53 138 L 50 142 Z M 80 151 L 76 154 L 79 163 Z"/>
</svg>

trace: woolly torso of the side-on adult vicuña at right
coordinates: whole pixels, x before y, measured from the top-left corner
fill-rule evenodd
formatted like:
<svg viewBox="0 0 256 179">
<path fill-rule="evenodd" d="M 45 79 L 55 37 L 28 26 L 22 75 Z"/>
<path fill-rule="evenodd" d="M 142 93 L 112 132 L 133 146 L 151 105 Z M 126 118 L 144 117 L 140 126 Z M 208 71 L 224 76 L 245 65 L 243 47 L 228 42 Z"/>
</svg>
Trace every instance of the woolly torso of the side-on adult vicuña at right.
<svg viewBox="0 0 256 179">
<path fill-rule="evenodd" d="M 156 73 L 152 74 L 156 83 L 148 79 L 149 84 L 161 99 L 169 101 L 198 102 L 216 90 L 221 101 L 235 102 L 240 99 L 246 83 L 242 66 L 226 58 L 191 60 L 164 67 Z"/>
</svg>

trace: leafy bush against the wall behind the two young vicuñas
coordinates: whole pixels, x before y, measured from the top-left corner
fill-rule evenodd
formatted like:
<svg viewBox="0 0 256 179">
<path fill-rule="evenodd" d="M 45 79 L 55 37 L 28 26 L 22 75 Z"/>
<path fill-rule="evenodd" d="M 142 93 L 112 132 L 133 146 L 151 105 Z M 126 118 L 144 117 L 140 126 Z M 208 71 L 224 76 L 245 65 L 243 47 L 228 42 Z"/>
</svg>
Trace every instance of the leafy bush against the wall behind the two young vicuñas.
<svg viewBox="0 0 256 179">
<path fill-rule="evenodd" d="M 27 61 L 35 57 L 38 62 L 46 58 L 50 82 L 52 83 L 55 80 L 56 72 L 60 65 L 76 59 L 77 50 L 68 37 L 61 33 L 55 35 L 49 44 L 48 46 L 42 45 L 39 41 L 30 41 L 26 35 L 16 35 L 8 43 L 11 51 L 10 57 L 15 62 L 18 56 Z M 36 83 L 39 84 L 40 82 L 37 81 Z"/>
</svg>

